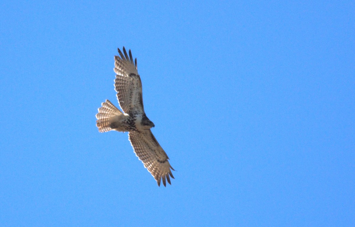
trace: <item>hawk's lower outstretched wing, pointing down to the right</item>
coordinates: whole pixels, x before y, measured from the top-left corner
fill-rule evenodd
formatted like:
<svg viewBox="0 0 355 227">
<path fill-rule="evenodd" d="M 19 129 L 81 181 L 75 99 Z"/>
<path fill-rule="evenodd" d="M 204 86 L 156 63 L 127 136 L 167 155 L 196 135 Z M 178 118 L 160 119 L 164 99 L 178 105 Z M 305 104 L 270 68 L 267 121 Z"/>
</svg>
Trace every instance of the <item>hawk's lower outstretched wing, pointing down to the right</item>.
<svg viewBox="0 0 355 227">
<path fill-rule="evenodd" d="M 129 132 L 129 140 L 131 141 L 136 156 L 143 162 L 144 167 L 153 175 L 158 186 L 160 186 L 161 179 L 163 179 L 164 186 L 166 186 L 166 180 L 171 185 L 169 175 L 173 179 L 174 176 L 170 169 L 174 169 L 168 162 L 168 156 L 155 139 L 152 131 L 149 129 Z"/>
</svg>

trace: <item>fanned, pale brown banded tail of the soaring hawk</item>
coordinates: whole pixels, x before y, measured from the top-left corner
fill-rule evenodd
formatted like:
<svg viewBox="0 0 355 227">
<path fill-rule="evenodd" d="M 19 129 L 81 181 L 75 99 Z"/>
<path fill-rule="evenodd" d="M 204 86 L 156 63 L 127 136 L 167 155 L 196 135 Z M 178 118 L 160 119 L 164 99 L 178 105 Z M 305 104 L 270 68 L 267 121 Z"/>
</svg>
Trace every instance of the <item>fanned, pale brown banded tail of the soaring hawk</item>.
<svg viewBox="0 0 355 227">
<path fill-rule="evenodd" d="M 99 113 L 96 114 L 96 126 L 99 132 L 108 132 L 110 128 L 110 119 L 112 117 L 123 115 L 123 113 L 114 106 L 109 100 L 106 100 L 101 104 L 102 106 L 98 109 Z"/>
</svg>

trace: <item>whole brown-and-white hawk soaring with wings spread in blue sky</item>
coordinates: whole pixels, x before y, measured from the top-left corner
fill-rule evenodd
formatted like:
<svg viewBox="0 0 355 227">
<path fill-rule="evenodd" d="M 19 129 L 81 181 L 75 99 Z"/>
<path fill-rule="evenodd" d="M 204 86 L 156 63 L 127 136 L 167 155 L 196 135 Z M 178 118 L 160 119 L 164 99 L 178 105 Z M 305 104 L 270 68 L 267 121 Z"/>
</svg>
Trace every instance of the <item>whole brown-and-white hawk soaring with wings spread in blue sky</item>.
<svg viewBox="0 0 355 227">
<path fill-rule="evenodd" d="M 155 139 L 151 128 L 154 123 L 149 120 L 143 107 L 142 81 L 138 75 L 137 58 L 133 62 L 131 50 L 129 57 L 125 47 L 123 53 L 118 48 L 119 56 L 115 56 L 115 91 L 120 104 L 121 112 L 109 100 L 102 103 L 96 115 L 96 126 L 99 132 L 115 130 L 118 132 L 129 132 L 128 139 L 131 141 L 134 152 L 144 167 L 152 174 L 160 187 L 166 187 L 166 181 L 171 185 L 169 175 L 171 167 L 168 156 Z"/>
</svg>

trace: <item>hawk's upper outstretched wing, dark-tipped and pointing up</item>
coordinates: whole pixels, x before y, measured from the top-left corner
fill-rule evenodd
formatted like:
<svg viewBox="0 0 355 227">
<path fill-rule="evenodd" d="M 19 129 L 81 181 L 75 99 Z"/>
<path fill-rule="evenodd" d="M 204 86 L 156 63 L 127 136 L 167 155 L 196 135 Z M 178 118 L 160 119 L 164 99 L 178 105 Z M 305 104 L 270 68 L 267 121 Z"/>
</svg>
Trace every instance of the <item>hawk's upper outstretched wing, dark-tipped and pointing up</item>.
<svg viewBox="0 0 355 227">
<path fill-rule="evenodd" d="M 142 81 L 138 75 L 137 58 L 133 63 L 132 53 L 129 50 L 128 57 L 125 47 L 123 53 L 118 49 L 121 57 L 115 56 L 114 71 L 117 74 L 115 79 L 115 91 L 121 109 L 129 113 L 144 113 L 142 97 Z"/>
</svg>

